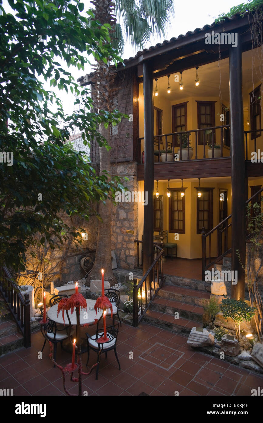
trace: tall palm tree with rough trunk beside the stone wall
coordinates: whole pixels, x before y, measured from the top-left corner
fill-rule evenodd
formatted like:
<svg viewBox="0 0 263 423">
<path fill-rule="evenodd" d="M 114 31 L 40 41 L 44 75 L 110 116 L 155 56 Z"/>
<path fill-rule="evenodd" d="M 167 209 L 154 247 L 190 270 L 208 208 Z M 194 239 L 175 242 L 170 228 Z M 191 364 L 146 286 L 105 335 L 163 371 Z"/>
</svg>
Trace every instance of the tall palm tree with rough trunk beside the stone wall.
<svg viewBox="0 0 263 423">
<path fill-rule="evenodd" d="M 173 13 L 172 0 L 93 0 L 91 2 L 95 5 L 94 17 L 90 17 L 87 22 L 88 27 L 93 27 L 98 22 L 111 27 L 110 36 L 112 44 L 122 53 L 124 41 L 122 38 L 121 27 L 117 23 L 114 8 L 117 14 L 122 16 L 125 23 L 125 30 L 127 36 L 134 45 L 142 48 L 152 33 L 164 34 L 165 25 L 169 21 L 169 16 Z M 93 84 L 96 95 L 95 105 L 100 110 L 107 110 L 111 112 L 114 107 L 113 103 L 113 82 L 114 69 L 110 66 L 111 56 L 108 60 L 101 60 L 95 57 L 97 67 L 93 77 Z M 108 144 L 110 143 L 110 128 L 105 128 L 100 125 L 100 133 L 106 138 Z M 100 173 L 106 170 L 108 173 L 111 169 L 111 157 L 105 147 L 100 147 Z M 98 242 L 96 249 L 96 258 L 93 269 L 89 275 L 90 279 L 100 279 L 101 269 L 105 269 L 105 279 L 111 285 L 115 281 L 111 269 L 111 209 L 110 205 L 100 203 L 100 216 L 102 222 L 98 225 Z"/>
</svg>

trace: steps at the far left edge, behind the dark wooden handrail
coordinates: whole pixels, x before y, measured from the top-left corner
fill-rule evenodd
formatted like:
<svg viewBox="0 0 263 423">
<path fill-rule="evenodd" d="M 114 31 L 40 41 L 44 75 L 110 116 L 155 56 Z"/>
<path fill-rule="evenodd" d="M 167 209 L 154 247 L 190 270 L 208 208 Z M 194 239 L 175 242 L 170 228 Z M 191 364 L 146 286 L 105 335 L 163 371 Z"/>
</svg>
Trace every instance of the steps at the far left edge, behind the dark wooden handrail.
<svg viewBox="0 0 263 423">
<path fill-rule="evenodd" d="M 0 356 L 24 346 L 24 338 L 0 294 Z"/>
</svg>

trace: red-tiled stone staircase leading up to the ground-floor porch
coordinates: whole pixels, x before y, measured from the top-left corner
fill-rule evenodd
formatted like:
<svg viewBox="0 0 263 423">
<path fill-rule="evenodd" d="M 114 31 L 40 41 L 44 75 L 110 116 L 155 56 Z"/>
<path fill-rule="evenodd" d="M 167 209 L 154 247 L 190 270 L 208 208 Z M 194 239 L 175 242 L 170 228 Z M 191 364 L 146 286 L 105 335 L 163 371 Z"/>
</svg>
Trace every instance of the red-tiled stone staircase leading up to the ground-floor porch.
<svg viewBox="0 0 263 423">
<path fill-rule="evenodd" d="M 172 281 L 171 281 L 172 280 Z M 210 292 L 201 289 L 187 288 L 189 279 L 169 277 L 165 285 L 159 289 L 156 297 L 149 305 L 143 321 L 163 329 L 177 333 L 190 333 L 193 327 L 203 326 L 203 302 L 208 303 Z M 193 280 L 191 284 L 205 288 L 201 281 Z M 209 284 L 210 286 L 210 284 Z M 179 319 L 175 319 L 175 313 Z"/>
</svg>

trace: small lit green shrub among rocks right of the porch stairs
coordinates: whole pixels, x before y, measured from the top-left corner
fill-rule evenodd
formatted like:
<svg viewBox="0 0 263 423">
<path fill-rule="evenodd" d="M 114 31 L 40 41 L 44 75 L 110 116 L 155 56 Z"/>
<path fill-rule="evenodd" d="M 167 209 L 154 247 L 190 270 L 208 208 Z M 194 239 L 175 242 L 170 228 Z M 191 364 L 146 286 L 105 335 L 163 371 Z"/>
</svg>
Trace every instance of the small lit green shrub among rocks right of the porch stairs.
<svg viewBox="0 0 263 423">
<path fill-rule="evenodd" d="M 242 321 L 250 321 L 255 315 L 256 308 L 250 307 L 241 299 L 223 298 L 220 307 L 223 317 L 230 318 L 235 323 L 236 339 L 239 339 L 240 324 Z"/>
</svg>

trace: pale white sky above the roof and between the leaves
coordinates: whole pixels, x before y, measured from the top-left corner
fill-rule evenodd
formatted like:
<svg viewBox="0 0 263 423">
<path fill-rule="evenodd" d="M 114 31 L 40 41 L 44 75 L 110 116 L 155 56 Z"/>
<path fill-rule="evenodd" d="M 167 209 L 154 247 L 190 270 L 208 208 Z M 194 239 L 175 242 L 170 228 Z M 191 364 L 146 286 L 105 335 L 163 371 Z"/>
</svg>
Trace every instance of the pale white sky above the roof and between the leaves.
<svg viewBox="0 0 263 423">
<path fill-rule="evenodd" d="M 87 1 L 82 0 L 84 3 L 84 11 L 93 5 Z M 208 0 L 174 0 L 174 17 L 171 18 L 171 25 L 167 27 L 166 36 L 154 36 L 149 43 L 145 45 L 145 48 L 155 45 L 159 42 L 163 42 L 164 39 L 170 40 L 172 37 L 177 37 L 180 34 L 185 34 L 187 31 L 193 31 L 195 28 L 203 27 L 206 24 L 211 24 L 214 18 L 218 17 L 221 13 L 227 13 L 231 7 L 239 5 L 240 0 L 220 0 L 220 1 L 208 1 Z M 3 7 L 7 13 L 12 13 L 8 1 L 3 0 Z M 84 15 L 84 11 L 82 14 Z M 123 58 L 129 58 L 130 56 L 136 55 L 137 49 L 133 48 L 129 41 L 125 44 Z M 60 61 L 60 60 L 58 60 Z M 90 57 L 91 63 L 93 63 L 92 56 Z M 62 63 L 62 67 L 68 70 L 66 63 Z M 78 71 L 75 67 L 70 67 L 70 71 L 75 78 L 81 77 L 83 74 L 87 74 L 92 70 L 91 66 L 87 65 L 85 71 Z M 74 96 L 71 93 L 65 91 L 59 91 L 56 88 L 51 88 L 50 84 L 44 82 L 45 89 L 54 91 L 58 97 L 62 100 L 65 113 L 73 112 Z"/>
</svg>

